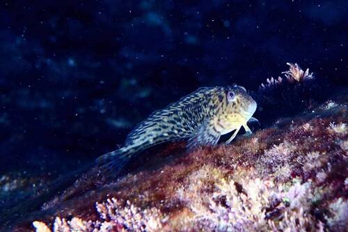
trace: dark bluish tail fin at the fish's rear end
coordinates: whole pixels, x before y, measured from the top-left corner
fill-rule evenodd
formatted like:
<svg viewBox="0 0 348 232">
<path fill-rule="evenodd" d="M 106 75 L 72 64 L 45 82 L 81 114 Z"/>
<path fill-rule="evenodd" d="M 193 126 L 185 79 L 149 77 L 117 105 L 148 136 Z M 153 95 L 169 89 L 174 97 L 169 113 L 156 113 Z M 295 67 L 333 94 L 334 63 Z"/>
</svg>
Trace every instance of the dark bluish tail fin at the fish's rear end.
<svg viewBox="0 0 348 232">
<path fill-rule="evenodd" d="M 120 148 L 98 157 L 95 162 L 97 162 L 102 175 L 109 178 L 120 174 L 125 164 L 127 164 L 129 157 L 129 152 L 125 148 Z"/>
</svg>

